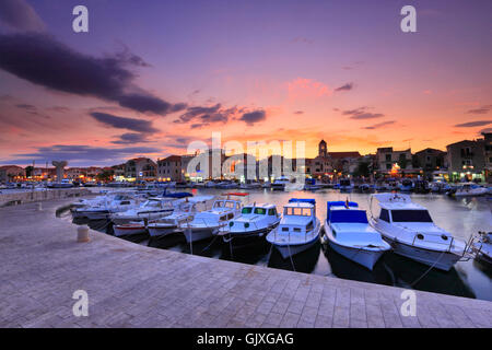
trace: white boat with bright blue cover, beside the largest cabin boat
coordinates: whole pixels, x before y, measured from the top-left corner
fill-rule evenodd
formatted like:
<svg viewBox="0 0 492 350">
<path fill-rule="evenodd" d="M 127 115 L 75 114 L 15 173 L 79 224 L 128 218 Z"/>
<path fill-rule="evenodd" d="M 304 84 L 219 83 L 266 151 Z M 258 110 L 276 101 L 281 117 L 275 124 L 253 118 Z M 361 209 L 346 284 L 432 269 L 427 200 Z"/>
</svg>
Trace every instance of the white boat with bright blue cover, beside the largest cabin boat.
<svg viewBox="0 0 492 350">
<path fill-rule="evenodd" d="M 365 210 L 353 201 L 328 201 L 325 232 L 330 247 L 367 269 L 391 246 L 367 221 Z"/>
</svg>

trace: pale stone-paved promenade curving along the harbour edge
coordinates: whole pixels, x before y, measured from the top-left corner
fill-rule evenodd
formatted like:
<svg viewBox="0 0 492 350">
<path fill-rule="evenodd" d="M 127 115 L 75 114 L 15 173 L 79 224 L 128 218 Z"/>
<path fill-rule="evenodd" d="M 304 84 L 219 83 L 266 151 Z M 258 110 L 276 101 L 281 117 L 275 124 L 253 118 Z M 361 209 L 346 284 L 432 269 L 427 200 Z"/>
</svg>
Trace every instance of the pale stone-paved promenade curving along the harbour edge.
<svg viewBox="0 0 492 350">
<path fill-rule="evenodd" d="M 0 209 L 0 327 L 492 327 L 492 303 L 149 248 L 55 217 Z M 75 317 L 72 294 L 89 294 Z"/>
</svg>

